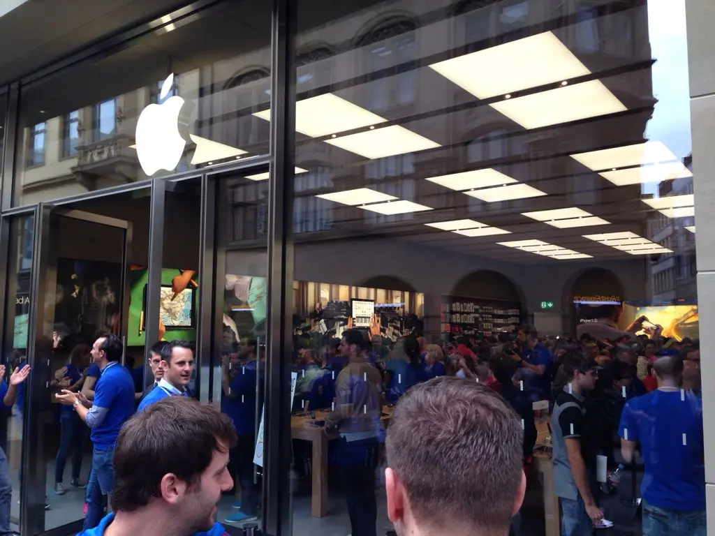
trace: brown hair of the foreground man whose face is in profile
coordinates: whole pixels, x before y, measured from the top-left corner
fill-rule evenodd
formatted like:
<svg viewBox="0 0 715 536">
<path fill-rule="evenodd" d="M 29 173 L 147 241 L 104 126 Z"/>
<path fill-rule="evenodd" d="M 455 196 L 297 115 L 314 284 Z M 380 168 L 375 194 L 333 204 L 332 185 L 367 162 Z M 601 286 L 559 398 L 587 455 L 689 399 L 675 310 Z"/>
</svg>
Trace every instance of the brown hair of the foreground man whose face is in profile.
<svg viewBox="0 0 715 536">
<path fill-rule="evenodd" d="M 164 475 L 197 485 L 214 452 L 236 445 L 233 422 L 216 407 L 188 397 L 165 397 L 129 419 L 114 447 L 117 512 L 134 512 L 159 497 Z"/>
</svg>

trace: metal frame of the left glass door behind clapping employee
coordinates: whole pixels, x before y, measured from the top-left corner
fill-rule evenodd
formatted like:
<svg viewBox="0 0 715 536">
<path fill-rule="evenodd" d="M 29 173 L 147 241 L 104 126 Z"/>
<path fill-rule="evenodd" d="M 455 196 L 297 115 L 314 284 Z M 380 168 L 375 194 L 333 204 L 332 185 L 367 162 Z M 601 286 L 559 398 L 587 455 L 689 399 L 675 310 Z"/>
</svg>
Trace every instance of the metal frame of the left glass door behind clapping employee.
<svg viewBox="0 0 715 536">
<path fill-rule="evenodd" d="M 42 417 L 44 410 L 49 409 L 47 394 L 50 381 L 49 356 L 52 352 L 51 338 L 44 335 L 47 321 L 44 304 L 47 299 L 54 301 L 54 282 L 56 282 L 57 269 L 56 240 L 52 239 L 51 236 L 52 216 L 67 217 L 124 229 L 124 247 L 122 251 L 124 272 L 122 273 L 120 292 L 122 314 L 119 327 L 119 334 L 124 342 L 126 342 L 129 315 L 129 259 L 132 254 L 132 224 L 130 222 L 90 212 L 56 207 L 46 203 L 39 203 L 34 209 L 34 239 L 30 285 L 32 299 L 27 344 L 28 364 L 32 367 L 32 372 L 26 380 L 26 407 L 22 435 L 22 477 L 20 482 L 20 533 L 45 536 L 66 535 L 82 529 L 82 519 L 50 530 L 45 530 L 44 527 L 47 472 L 44 463 L 46 456 L 44 452 Z"/>
</svg>

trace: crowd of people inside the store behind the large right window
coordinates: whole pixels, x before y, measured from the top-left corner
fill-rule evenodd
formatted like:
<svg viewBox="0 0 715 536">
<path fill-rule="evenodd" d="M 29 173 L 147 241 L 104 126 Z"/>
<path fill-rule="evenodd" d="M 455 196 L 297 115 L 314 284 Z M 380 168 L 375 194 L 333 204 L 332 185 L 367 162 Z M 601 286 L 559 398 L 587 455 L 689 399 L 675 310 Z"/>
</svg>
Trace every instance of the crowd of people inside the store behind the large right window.
<svg viewBox="0 0 715 536">
<path fill-rule="evenodd" d="M 435 377 L 483 384 L 508 402 L 523 427 L 528 464 L 537 440 L 534 402 L 553 411 L 553 466 L 565 536 L 603 525 L 599 502 L 615 491 L 625 465 L 642 460 L 646 535 L 704 534 L 705 484 L 699 342 L 639 334 L 608 323 L 578 339 L 516 334 L 430 344 L 348 329 L 341 339 L 297 340 L 294 410 L 330 408 L 352 535 L 375 535 L 375 467 L 383 441 L 383 407 Z M 603 332 L 613 338 L 603 337 Z M 638 454 L 634 454 L 638 452 Z M 607 477 L 599 478 L 602 457 Z M 684 521 L 684 520 L 687 521 Z"/>
</svg>

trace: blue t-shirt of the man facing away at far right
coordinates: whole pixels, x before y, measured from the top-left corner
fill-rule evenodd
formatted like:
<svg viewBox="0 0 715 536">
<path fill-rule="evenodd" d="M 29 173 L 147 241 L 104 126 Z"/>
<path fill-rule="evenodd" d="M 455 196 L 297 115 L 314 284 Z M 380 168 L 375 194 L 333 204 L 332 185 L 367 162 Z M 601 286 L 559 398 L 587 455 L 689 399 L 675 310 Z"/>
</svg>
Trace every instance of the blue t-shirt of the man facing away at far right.
<svg viewBox="0 0 715 536">
<path fill-rule="evenodd" d="M 661 390 L 636 397 L 623 408 L 618 435 L 641 443 L 645 500 L 671 510 L 705 510 L 701 399 Z"/>
</svg>

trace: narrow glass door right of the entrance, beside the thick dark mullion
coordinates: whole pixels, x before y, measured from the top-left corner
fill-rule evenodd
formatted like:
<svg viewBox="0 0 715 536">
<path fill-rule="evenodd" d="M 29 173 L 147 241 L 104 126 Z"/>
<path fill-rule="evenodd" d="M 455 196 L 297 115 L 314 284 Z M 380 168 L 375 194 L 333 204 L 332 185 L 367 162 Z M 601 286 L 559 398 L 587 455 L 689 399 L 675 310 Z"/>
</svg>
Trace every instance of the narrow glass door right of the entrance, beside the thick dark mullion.
<svg viewBox="0 0 715 536">
<path fill-rule="evenodd" d="M 268 166 L 207 174 L 202 185 L 201 399 L 234 422 L 234 489 L 217 521 L 230 534 L 261 526 L 263 401 L 267 335 Z"/>
</svg>

